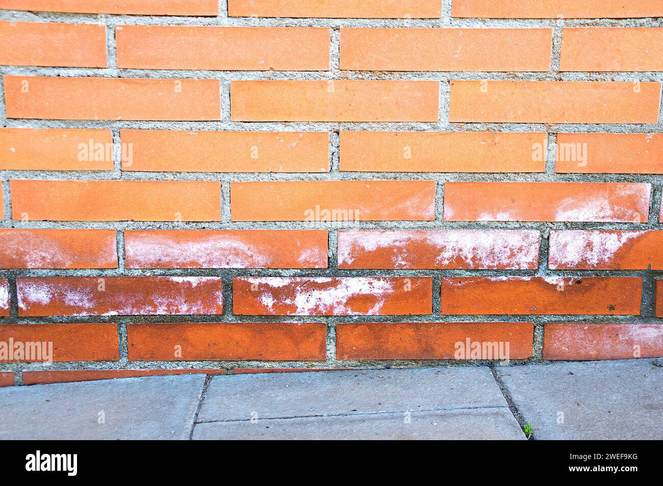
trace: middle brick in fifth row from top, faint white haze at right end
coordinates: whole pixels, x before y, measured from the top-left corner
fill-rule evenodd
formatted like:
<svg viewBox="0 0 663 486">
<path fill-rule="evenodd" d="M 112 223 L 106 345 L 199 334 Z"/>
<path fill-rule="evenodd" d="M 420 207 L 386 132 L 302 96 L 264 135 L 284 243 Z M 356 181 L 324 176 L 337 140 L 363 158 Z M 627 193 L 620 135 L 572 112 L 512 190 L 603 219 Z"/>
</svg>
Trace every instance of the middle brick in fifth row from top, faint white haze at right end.
<svg viewBox="0 0 663 486">
<path fill-rule="evenodd" d="M 233 221 L 433 220 L 435 181 L 233 182 L 230 203 Z"/>
</svg>

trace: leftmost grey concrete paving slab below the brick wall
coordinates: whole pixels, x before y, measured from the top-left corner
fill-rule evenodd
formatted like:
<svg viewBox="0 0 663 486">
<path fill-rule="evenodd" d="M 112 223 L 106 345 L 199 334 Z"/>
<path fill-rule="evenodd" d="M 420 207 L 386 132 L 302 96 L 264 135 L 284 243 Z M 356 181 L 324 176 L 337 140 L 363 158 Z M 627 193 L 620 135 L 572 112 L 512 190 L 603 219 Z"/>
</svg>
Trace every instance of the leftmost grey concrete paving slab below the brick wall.
<svg viewBox="0 0 663 486">
<path fill-rule="evenodd" d="M 204 382 L 182 375 L 0 388 L 0 440 L 186 439 Z"/>
</svg>

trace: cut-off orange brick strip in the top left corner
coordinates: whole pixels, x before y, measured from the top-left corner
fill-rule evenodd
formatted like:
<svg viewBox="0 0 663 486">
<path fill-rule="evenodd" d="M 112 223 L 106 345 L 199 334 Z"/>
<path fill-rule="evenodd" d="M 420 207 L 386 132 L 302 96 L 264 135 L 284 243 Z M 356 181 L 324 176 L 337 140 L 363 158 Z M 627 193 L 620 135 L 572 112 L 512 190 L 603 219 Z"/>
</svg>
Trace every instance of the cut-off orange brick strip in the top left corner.
<svg viewBox="0 0 663 486">
<path fill-rule="evenodd" d="M 217 0 L 0 0 L 0 9 L 127 15 L 219 15 Z"/>
</svg>

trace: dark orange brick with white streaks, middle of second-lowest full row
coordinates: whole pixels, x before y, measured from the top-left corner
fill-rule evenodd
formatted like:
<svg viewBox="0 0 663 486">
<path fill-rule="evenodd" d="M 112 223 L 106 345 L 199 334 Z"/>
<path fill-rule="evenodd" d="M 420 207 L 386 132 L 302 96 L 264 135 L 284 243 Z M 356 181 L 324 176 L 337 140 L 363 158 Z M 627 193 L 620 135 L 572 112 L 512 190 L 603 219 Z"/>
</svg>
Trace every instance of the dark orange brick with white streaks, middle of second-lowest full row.
<svg viewBox="0 0 663 486">
<path fill-rule="evenodd" d="M 431 299 L 430 277 L 233 278 L 235 315 L 424 315 Z"/>
</svg>

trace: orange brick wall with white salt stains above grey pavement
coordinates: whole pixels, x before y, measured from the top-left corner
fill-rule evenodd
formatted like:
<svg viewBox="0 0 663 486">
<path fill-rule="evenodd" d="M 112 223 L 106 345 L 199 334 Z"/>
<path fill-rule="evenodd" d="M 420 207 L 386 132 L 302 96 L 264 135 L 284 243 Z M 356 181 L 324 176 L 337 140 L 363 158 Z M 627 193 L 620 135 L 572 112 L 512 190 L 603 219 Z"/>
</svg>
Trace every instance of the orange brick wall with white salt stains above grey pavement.
<svg viewBox="0 0 663 486">
<path fill-rule="evenodd" d="M 0 386 L 663 356 L 660 0 L 0 9 Z"/>
</svg>

